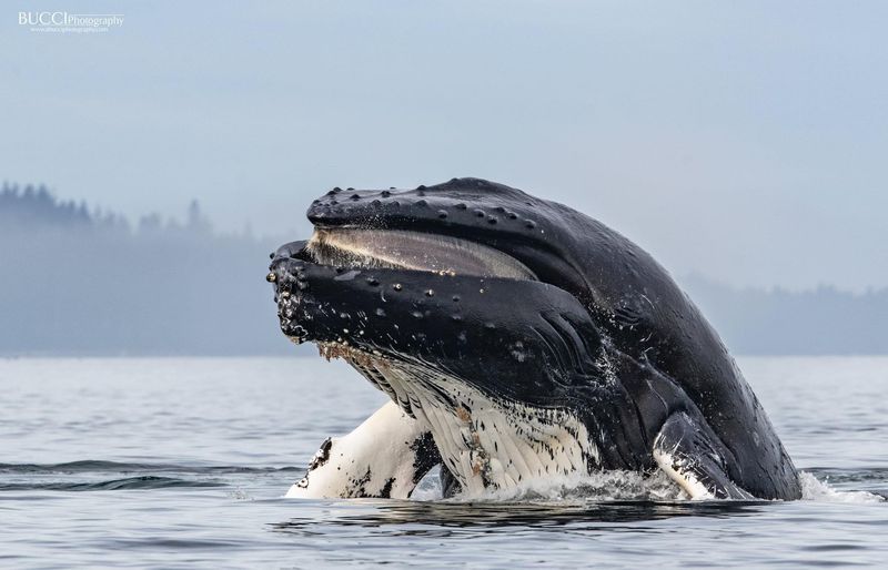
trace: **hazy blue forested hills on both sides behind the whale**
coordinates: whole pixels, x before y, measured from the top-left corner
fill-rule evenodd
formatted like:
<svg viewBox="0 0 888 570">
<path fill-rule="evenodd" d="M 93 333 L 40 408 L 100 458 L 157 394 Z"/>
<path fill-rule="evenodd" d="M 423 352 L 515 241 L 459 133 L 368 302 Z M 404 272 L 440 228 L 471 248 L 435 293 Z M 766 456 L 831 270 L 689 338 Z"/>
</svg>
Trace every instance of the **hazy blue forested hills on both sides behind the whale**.
<svg viewBox="0 0 888 570">
<path fill-rule="evenodd" d="M 269 252 L 295 237 L 214 232 L 196 202 L 184 221 L 131 224 L 42 186 L 4 184 L 0 355 L 292 354 L 264 275 Z M 888 354 L 888 289 L 678 281 L 735 354 Z"/>
</svg>

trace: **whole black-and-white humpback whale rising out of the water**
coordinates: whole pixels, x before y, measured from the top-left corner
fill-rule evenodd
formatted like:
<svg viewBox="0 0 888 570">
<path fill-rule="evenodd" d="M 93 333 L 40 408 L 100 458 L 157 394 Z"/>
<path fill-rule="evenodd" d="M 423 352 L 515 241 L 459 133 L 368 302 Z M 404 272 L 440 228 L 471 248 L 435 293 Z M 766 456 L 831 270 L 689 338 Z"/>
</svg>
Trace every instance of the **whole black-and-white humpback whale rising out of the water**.
<svg viewBox="0 0 888 570">
<path fill-rule="evenodd" d="M 645 251 L 480 179 L 334 189 L 272 254 L 281 330 L 390 401 L 290 497 L 406 498 L 602 470 L 694 499 L 797 499 L 791 459 L 717 333 Z"/>
</svg>

